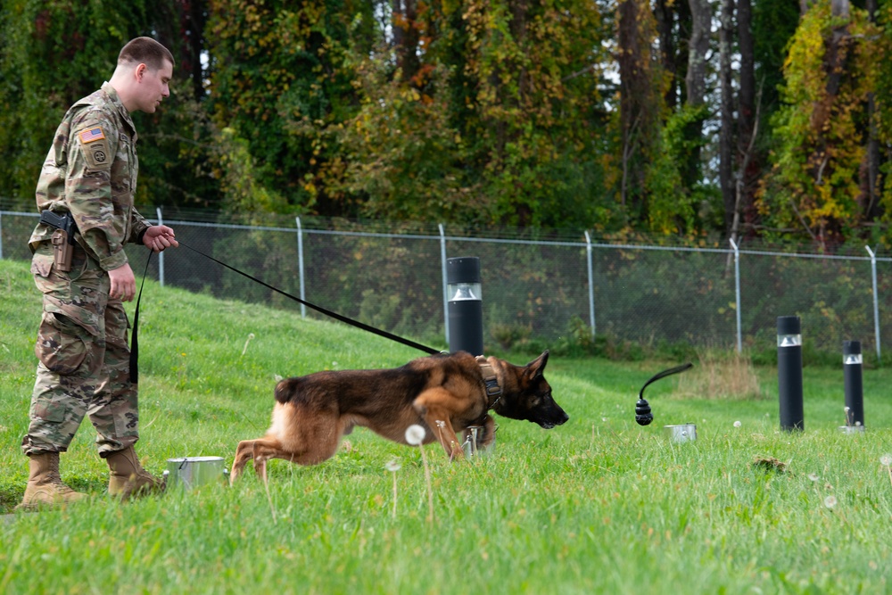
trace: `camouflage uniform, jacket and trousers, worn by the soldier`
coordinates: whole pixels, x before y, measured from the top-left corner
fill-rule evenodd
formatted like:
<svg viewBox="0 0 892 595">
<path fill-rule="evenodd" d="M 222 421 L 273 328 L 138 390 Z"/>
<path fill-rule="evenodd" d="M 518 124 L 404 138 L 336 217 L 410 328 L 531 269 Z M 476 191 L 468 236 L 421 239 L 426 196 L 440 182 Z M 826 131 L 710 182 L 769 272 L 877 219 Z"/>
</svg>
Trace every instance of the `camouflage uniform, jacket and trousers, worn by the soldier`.
<svg viewBox="0 0 892 595">
<path fill-rule="evenodd" d="M 26 455 L 67 450 L 85 414 L 103 457 L 138 439 L 128 318 L 107 272 L 150 227 L 133 206 L 137 169 L 136 128 L 105 83 L 65 114 L 37 182 L 38 211 L 70 212 L 78 231 L 69 272 L 54 267 L 52 227 L 38 224 L 29 240 L 44 308 Z"/>
</svg>

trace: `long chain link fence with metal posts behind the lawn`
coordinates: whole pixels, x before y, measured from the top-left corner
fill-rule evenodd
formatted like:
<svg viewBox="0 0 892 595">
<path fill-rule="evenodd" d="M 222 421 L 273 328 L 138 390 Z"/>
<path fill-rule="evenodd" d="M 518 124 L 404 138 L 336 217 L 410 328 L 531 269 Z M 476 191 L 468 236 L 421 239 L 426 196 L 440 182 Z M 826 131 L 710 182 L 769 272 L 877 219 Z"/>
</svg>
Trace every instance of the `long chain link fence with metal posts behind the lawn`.
<svg viewBox="0 0 892 595">
<path fill-rule="evenodd" d="M 865 354 L 875 350 L 879 359 L 892 339 L 892 258 L 868 246 L 861 254 L 821 255 L 763 244 L 616 244 L 587 233 L 457 232 L 335 219 L 260 225 L 208 213 L 153 214 L 185 244 L 152 259 L 149 275 L 164 285 L 322 317 L 189 246 L 307 302 L 435 348 L 448 347 L 445 260 L 459 256 L 480 259 L 488 350 L 596 335 L 767 349 L 775 344 L 777 317 L 789 315 L 802 318 L 803 341 L 815 351 L 840 352 L 843 341 L 859 340 Z M 0 211 L 0 258 L 29 259 L 36 223 L 36 213 Z M 128 253 L 140 274 L 144 249 L 128 246 Z"/>
</svg>

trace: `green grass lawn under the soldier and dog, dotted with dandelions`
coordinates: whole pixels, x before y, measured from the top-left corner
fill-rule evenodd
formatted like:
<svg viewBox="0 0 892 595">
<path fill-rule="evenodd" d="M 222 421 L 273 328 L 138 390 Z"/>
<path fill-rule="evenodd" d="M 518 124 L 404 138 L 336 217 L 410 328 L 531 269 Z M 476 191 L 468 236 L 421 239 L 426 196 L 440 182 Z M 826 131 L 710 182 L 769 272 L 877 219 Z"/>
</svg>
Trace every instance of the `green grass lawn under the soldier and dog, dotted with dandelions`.
<svg viewBox="0 0 892 595">
<path fill-rule="evenodd" d="M 39 296 L 27 264 L 0 260 L 0 508 L 21 499 Z M 145 466 L 216 455 L 266 429 L 275 376 L 379 368 L 420 355 L 293 312 L 147 283 L 140 313 Z M 131 304 L 132 309 L 132 304 Z M 244 352 L 249 334 L 254 338 Z M 528 359 L 511 357 L 516 363 Z M 762 400 L 681 399 L 648 387 L 656 420 L 635 425 L 640 385 L 679 362 L 549 360 L 570 421 L 551 431 L 498 418 L 496 452 L 449 464 L 364 429 L 317 467 L 249 469 L 126 504 L 81 427 L 62 477 L 87 504 L 0 521 L 4 593 L 704 593 L 889 591 L 892 452 L 886 368 L 864 372 L 868 432 L 845 435 L 841 369 L 805 369 L 805 432 L 778 430 L 776 372 Z M 735 427 L 734 422 L 740 426 Z M 666 442 L 694 422 L 698 440 Z M 392 475 L 397 457 L 396 516 Z M 787 472 L 754 467 L 776 458 Z M 835 499 L 829 508 L 826 504 Z"/>
</svg>

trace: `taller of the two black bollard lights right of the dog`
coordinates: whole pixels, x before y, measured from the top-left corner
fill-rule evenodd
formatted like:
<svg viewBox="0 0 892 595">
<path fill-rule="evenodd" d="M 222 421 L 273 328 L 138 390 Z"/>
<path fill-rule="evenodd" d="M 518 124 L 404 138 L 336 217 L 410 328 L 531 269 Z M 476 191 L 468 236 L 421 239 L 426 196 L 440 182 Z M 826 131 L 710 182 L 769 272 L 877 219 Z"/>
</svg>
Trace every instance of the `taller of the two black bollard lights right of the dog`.
<svg viewBox="0 0 892 595">
<path fill-rule="evenodd" d="M 802 329 L 797 316 L 778 317 L 780 429 L 803 430 Z"/>
</svg>

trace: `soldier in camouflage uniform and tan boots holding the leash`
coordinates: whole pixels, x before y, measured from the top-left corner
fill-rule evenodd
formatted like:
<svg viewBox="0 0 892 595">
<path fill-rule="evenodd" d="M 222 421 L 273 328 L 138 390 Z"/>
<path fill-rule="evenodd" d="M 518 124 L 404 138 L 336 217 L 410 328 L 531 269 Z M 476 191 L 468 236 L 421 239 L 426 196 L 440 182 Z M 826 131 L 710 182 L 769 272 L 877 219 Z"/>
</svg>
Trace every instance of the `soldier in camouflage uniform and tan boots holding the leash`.
<svg viewBox="0 0 892 595">
<path fill-rule="evenodd" d="M 59 453 L 68 449 L 85 415 L 111 470 L 110 494 L 126 499 L 161 489 L 133 448 L 136 385 L 129 380 L 122 302 L 136 293 L 125 244 L 144 244 L 154 252 L 178 246 L 170 227 L 151 225 L 134 208 L 138 165 L 130 119 L 137 110 L 153 113 L 169 95 L 173 67 L 173 55 L 150 37 L 124 45 L 111 81 L 70 107 L 44 161 L 37 210 L 50 213 L 29 240 L 31 272 L 44 306 L 30 425 L 21 441 L 30 475 L 18 508 L 86 497 L 59 475 Z M 67 244 L 65 234 L 45 220 L 73 223 L 73 242 Z M 68 249 L 65 258 L 54 257 L 62 249 Z"/>
</svg>

